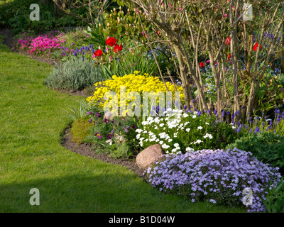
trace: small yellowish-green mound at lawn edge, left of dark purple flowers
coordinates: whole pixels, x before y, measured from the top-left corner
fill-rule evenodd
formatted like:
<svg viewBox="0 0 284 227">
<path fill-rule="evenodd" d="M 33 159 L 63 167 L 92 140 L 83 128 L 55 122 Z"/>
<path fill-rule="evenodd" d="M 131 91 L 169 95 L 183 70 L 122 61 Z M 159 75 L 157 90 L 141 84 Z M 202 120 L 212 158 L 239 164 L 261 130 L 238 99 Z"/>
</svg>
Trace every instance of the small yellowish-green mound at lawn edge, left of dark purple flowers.
<svg viewBox="0 0 284 227">
<path fill-rule="evenodd" d="M 72 142 L 77 144 L 83 143 L 84 138 L 89 135 L 88 128 L 93 125 L 94 123 L 89 123 L 86 118 L 74 121 L 70 131 L 72 134 Z"/>
</svg>

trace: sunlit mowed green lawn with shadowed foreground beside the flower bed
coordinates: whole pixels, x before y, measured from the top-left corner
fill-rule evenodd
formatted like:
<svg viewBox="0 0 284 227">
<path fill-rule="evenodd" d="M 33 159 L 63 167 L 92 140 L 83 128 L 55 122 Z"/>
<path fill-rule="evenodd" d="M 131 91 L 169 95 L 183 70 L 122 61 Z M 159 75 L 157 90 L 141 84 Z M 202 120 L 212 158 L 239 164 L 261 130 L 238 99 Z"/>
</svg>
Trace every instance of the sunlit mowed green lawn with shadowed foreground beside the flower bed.
<svg viewBox="0 0 284 227">
<path fill-rule="evenodd" d="M 62 148 L 66 111 L 82 98 L 46 88 L 51 69 L 0 45 L 0 212 L 241 211 L 163 194 L 125 167 Z"/>
</svg>

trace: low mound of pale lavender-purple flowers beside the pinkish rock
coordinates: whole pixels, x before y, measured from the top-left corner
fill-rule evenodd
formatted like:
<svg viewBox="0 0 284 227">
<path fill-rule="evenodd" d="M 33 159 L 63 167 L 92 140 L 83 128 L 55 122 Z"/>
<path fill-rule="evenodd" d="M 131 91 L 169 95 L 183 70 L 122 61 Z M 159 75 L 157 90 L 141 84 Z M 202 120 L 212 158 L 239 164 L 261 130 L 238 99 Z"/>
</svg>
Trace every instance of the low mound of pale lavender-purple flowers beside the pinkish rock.
<svg viewBox="0 0 284 227">
<path fill-rule="evenodd" d="M 233 150 L 199 150 L 178 155 L 164 155 L 147 170 L 147 179 L 163 192 L 186 196 L 192 202 L 209 201 L 229 207 L 246 207 L 248 212 L 265 212 L 265 198 L 270 179 L 272 187 L 280 181 L 278 168 L 263 164 L 251 153 Z M 243 201 L 252 192 L 251 204 Z"/>
</svg>

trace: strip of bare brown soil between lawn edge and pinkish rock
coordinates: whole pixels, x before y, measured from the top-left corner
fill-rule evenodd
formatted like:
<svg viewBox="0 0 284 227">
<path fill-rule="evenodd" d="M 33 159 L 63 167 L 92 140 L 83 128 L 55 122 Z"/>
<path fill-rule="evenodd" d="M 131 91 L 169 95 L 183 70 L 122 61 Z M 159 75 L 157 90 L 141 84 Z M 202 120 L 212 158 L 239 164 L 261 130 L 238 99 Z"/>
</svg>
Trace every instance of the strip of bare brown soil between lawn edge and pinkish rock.
<svg viewBox="0 0 284 227">
<path fill-rule="evenodd" d="M 135 160 L 115 159 L 114 157 L 109 157 L 108 154 L 95 153 L 95 151 L 92 150 L 92 144 L 82 143 L 80 145 L 77 145 L 76 143 L 73 143 L 70 128 L 67 128 L 65 130 L 65 133 L 62 137 L 62 146 L 67 150 L 71 150 L 72 152 L 75 152 L 80 155 L 93 157 L 97 160 L 101 160 L 103 162 L 111 163 L 114 165 L 122 165 L 132 170 L 138 177 L 143 178 L 143 172 L 145 170 L 139 168 Z"/>
</svg>

